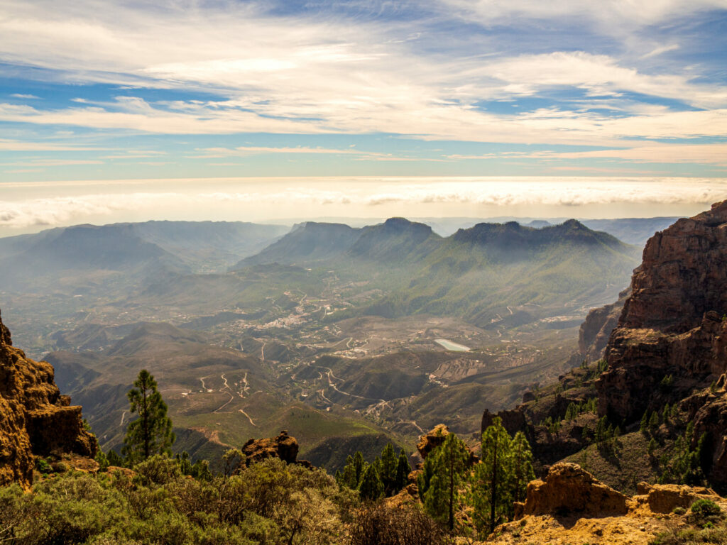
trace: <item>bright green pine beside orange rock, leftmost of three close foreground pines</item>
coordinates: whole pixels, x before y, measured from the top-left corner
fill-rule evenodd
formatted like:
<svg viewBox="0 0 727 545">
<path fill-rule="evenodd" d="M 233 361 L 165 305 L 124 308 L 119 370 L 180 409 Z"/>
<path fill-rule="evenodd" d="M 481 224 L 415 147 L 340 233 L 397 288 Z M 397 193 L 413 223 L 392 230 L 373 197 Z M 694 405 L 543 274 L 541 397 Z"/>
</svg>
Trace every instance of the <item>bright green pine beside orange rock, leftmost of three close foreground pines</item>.
<svg viewBox="0 0 727 545">
<path fill-rule="evenodd" d="M 425 510 L 436 520 L 447 523 L 454 530 L 454 512 L 459 504 L 459 485 L 470 461 L 465 442 L 454 433 L 431 451 L 419 475 L 419 494 Z"/>
</svg>

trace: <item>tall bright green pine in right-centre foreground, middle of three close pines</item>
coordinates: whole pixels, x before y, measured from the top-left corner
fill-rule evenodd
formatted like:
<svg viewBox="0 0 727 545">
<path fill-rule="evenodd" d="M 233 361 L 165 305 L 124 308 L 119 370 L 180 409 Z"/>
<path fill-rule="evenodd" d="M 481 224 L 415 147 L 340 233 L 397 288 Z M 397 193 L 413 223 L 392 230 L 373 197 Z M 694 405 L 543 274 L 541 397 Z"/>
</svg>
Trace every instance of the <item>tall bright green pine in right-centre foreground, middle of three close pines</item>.
<svg viewBox="0 0 727 545">
<path fill-rule="evenodd" d="M 475 466 L 471 491 L 475 525 L 481 532 L 492 532 L 497 522 L 507 518 L 510 512 L 513 502 L 511 442 L 499 417 L 482 434 L 481 462 Z"/>
</svg>

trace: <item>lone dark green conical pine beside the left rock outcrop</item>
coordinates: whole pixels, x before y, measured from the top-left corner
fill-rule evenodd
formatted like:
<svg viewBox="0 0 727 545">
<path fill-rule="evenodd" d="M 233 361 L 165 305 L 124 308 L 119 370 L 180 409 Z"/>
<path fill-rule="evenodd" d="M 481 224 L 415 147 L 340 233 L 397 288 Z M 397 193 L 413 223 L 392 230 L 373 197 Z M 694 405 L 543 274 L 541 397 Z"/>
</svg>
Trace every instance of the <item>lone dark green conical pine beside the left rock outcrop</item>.
<svg viewBox="0 0 727 545">
<path fill-rule="evenodd" d="M 156 389 L 156 381 L 149 371 L 142 369 L 127 395 L 132 413 L 139 418 L 129 422 L 122 453 L 129 464 L 144 461 L 153 454 L 171 453 L 174 443 L 172 419 L 166 416 L 166 403 Z"/>
</svg>

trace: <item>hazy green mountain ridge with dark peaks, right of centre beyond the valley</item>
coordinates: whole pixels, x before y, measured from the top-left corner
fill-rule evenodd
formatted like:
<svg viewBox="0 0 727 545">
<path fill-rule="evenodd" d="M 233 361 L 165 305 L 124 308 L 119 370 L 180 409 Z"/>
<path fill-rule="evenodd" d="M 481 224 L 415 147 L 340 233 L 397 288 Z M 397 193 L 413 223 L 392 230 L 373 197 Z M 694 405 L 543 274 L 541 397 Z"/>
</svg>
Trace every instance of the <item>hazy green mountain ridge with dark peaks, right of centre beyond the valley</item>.
<svg viewBox="0 0 727 545">
<path fill-rule="evenodd" d="M 361 229 L 308 223 L 234 268 L 336 270 L 387 290 L 365 313 L 457 315 L 481 327 L 510 327 L 608 302 L 638 254 L 574 219 L 541 228 L 481 223 L 443 238 L 427 225 L 391 218 Z"/>
</svg>

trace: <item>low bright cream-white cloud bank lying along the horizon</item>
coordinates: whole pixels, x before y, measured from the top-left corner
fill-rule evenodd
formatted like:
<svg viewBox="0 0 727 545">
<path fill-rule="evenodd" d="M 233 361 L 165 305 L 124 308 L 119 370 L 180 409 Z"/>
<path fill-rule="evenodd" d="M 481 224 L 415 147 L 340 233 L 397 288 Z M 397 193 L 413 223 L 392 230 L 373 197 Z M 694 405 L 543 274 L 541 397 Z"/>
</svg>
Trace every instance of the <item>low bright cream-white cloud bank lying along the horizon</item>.
<svg viewBox="0 0 727 545">
<path fill-rule="evenodd" d="M 216 219 L 300 217 L 305 211 L 337 216 L 376 214 L 427 215 L 427 206 L 471 210 L 472 206 L 504 207 L 499 215 L 524 206 L 698 206 L 727 198 L 727 179 L 625 177 L 349 177 L 316 179 L 201 179 L 132 180 L 150 190 L 130 191 L 129 182 L 57 182 L 47 184 L 57 195 L 68 188 L 84 193 L 19 201 L 0 201 L 0 229 L 38 225 L 128 221 L 209 214 Z M 185 190 L 168 190 L 169 185 Z M 41 187 L 39 185 L 38 187 Z M 126 187 L 125 193 L 110 191 Z M 5 187 L 5 185 L 3 185 Z M 97 192 L 94 192 L 94 189 Z M 464 207 L 464 208 L 463 208 Z M 697 208 L 697 209 L 699 209 Z M 163 211 L 164 215 L 160 215 Z M 560 210 L 577 216 L 579 210 Z M 288 214 L 287 216 L 284 214 Z M 455 214 L 453 214 L 455 215 Z M 208 218 L 209 219 L 209 218 Z"/>
</svg>

